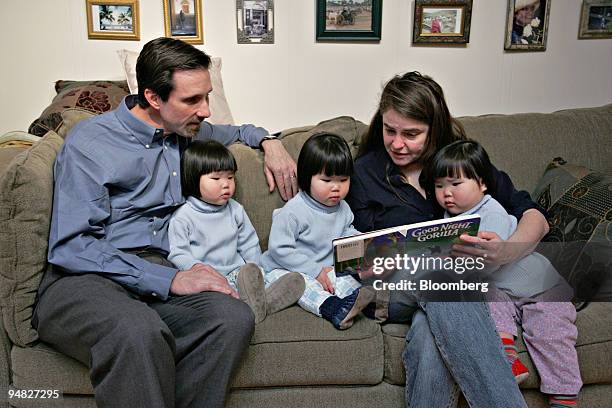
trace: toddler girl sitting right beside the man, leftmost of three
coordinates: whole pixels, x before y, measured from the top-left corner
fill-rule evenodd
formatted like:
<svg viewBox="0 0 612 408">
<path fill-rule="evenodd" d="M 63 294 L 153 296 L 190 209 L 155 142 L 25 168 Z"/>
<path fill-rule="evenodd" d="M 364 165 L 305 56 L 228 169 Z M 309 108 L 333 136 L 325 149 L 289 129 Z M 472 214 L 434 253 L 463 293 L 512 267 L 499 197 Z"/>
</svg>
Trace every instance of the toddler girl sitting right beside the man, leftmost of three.
<svg viewBox="0 0 612 408">
<path fill-rule="evenodd" d="M 292 304 L 304 291 L 293 273 L 264 287 L 259 239 L 244 208 L 232 199 L 238 167 L 221 143 L 194 141 L 181 157 L 181 185 L 187 201 L 170 218 L 170 260 L 187 270 L 204 263 L 225 276 L 253 310 L 255 323 Z"/>
</svg>

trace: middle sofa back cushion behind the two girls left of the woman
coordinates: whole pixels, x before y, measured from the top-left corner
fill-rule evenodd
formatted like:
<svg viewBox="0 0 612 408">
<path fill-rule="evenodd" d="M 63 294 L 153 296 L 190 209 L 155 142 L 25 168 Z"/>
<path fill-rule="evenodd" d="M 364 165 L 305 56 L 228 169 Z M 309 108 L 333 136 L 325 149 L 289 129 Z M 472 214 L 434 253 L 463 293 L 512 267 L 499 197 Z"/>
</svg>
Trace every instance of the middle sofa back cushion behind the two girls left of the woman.
<svg viewBox="0 0 612 408">
<path fill-rule="evenodd" d="M 348 116 L 341 116 L 325 120 L 317 125 L 284 130 L 280 137 L 283 146 L 297 161 L 302 145 L 315 133 L 331 132 L 342 136 L 354 155 L 357 150 L 357 142 L 366 130 L 367 126 L 364 123 Z M 238 162 L 234 198 L 244 206 L 249 214 L 261 247 L 265 250 L 272 225 L 272 211 L 282 207 L 284 202 L 277 191 L 268 192 L 263 173 L 263 155 L 258 150 L 239 144 L 234 144 L 230 150 Z"/>
</svg>

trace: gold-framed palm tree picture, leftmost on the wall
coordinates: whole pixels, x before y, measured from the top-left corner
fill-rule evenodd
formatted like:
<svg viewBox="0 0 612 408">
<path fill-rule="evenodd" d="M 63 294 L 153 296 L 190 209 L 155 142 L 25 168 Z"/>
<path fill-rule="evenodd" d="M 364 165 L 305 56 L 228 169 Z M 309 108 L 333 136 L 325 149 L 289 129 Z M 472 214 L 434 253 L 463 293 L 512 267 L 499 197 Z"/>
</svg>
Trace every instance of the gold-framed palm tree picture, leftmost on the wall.
<svg viewBox="0 0 612 408">
<path fill-rule="evenodd" d="M 87 38 L 140 40 L 138 0 L 86 0 Z"/>
</svg>

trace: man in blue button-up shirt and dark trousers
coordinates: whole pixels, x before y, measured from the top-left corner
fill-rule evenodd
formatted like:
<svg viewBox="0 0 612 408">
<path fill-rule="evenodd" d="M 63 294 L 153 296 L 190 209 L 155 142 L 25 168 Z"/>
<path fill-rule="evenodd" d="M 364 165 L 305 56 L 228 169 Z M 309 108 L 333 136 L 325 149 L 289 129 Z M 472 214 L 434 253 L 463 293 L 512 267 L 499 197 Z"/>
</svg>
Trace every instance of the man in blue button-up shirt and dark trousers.
<svg viewBox="0 0 612 408">
<path fill-rule="evenodd" d="M 178 271 L 166 260 L 168 219 L 184 200 L 180 154 L 191 138 L 261 144 L 268 180 L 275 173 L 279 186 L 290 184 L 294 174 L 265 130 L 203 122 L 209 64 L 182 41 L 147 43 L 138 95 L 75 126 L 56 159 L 52 267 L 33 324 L 43 341 L 90 367 L 101 407 L 222 407 L 249 344 L 253 314 L 227 280 L 208 265 Z"/>
</svg>

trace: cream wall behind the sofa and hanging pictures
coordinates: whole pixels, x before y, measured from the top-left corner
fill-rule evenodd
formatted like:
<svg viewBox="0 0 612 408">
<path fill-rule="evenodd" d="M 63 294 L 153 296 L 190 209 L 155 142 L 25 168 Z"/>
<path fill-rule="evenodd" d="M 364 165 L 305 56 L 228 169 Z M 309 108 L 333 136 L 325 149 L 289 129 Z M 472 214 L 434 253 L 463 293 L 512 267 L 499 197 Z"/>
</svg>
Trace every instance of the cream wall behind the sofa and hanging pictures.
<svg viewBox="0 0 612 408">
<path fill-rule="evenodd" d="M 411 46 L 412 0 L 384 0 L 377 44 L 316 43 L 316 1 L 276 0 L 275 44 L 239 45 L 235 1 L 202 3 L 199 47 L 223 58 L 234 118 L 272 131 L 337 115 L 367 122 L 384 81 L 408 70 L 438 80 L 455 115 L 612 102 L 612 40 L 577 40 L 578 0 L 552 0 L 547 50 L 530 53 L 503 51 L 505 0 L 474 0 L 466 47 Z M 2 0 L 0 134 L 26 130 L 57 79 L 120 79 L 115 51 L 164 34 L 162 0 L 140 0 L 140 11 L 142 41 L 88 40 L 84 0 Z"/>
</svg>

